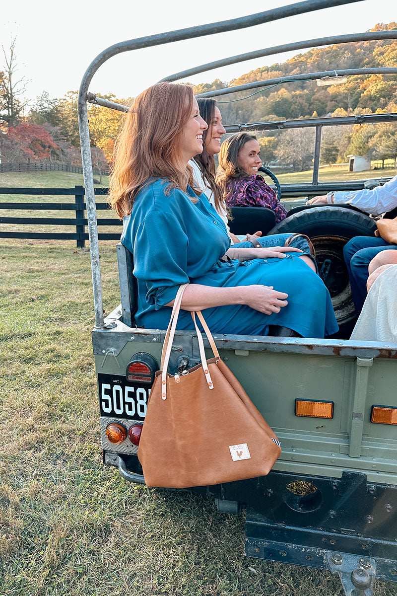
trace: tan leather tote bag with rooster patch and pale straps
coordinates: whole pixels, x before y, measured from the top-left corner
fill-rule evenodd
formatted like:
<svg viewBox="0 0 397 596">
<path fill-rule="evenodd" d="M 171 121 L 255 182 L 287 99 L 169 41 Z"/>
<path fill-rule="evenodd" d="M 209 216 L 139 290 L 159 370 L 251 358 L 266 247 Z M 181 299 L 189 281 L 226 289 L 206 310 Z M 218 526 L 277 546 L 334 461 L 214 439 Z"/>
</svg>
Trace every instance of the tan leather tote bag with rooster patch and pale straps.
<svg viewBox="0 0 397 596">
<path fill-rule="evenodd" d="M 179 288 L 165 334 L 161 370 L 148 402 L 138 457 L 147 486 L 188 488 L 265 476 L 281 454 L 280 441 L 220 359 L 201 312 L 214 358 L 185 374 L 167 373 L 183 291 Z"/>
</svg>

